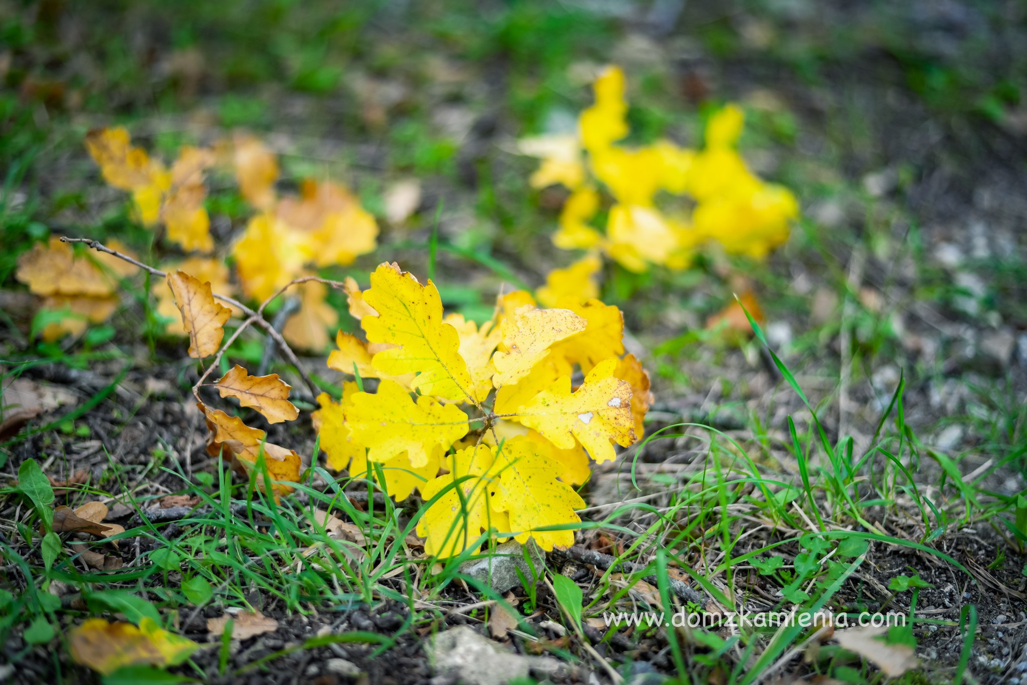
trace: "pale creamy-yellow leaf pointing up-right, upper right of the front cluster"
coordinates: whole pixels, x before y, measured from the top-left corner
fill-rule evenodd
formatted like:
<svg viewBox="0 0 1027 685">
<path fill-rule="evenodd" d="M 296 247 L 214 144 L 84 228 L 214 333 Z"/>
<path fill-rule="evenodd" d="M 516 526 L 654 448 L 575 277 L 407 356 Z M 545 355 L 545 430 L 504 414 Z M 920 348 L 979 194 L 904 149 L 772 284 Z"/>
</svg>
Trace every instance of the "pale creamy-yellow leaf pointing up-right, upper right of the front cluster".
<svg viewBox="0 0 1027 685">
<path fill-rule="evenodd" d="M 556 342 L 584 331 L 585 319 L 569 309 L 521 307 L 500 325 L 502 347 L 492 356 L 496 387 L 516 383 L 549 353 Z"/>
</svg>

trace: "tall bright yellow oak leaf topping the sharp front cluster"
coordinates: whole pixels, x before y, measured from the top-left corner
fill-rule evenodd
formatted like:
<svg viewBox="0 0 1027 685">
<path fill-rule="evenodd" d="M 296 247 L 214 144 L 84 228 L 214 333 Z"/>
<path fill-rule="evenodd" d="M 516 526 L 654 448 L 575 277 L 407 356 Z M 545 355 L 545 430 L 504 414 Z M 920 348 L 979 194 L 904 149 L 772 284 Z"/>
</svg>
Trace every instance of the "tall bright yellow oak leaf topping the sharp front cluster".
<svg viewBox="0 0 1027 685">
<path fill-rule="evenodd" d="M 380 264 L 364 299 L 378 312 L 360 319 L 368 340 L 398 345 L 375 354 L 375 369 L 391 376 L 416 373 L 411 388 L 424 394 L 453 402 L 474 398 L 467 363 L 459 352 L 460 336 L 443 320 L 434 283 L 422 286 L 398 266 Z"/>
</svg>

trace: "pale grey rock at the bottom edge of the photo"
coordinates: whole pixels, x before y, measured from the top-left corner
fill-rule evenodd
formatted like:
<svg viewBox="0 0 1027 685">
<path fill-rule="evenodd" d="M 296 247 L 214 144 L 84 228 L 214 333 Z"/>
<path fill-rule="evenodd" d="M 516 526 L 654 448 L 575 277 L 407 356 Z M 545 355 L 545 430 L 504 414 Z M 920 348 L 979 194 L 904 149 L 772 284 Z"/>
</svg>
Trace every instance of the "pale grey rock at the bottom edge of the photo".
<svg viewBox="0 0 1027 685">
<path fill-rule="evenodd" d="M 456 679 L 465 685 L 503 685 L 528 678 L 558 673 L 563 664 L 549 656 L 523 656 L 459 625 L 436 635 L 428 643 L 428 662 L 435 678 Z"/>
</svg>

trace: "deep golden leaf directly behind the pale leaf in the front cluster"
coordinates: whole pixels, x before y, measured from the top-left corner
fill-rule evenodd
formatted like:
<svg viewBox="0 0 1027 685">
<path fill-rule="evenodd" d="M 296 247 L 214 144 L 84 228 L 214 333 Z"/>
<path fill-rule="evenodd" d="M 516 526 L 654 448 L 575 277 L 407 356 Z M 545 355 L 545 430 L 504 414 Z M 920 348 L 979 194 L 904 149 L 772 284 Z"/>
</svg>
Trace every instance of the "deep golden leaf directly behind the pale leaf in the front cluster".
<svg viewBox="0 0 1027 685">
<path fill-rule="evenodd" d="M 583 373 L 611 356 L 624 352 L 624 316 L 614 305 L 599 300 L 585 303 L 565 299 L 561 306 L 587 321 L 584 331 L 553 346 L 553 364 L 561 375 L 569 376 L 575 364 Z"/>
</svg>

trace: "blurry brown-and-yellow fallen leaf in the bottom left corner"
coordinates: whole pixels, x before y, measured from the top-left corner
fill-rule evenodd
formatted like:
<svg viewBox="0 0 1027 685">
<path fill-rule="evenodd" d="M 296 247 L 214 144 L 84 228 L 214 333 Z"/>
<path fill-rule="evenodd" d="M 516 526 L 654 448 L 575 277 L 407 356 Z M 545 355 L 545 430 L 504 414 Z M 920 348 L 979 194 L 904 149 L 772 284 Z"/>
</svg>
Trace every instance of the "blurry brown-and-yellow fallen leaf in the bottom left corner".
<svg viewBox="0 0 1027 685">
<path fill-rule="evenodd" d="M 129 665 L 177 665 L 199 649 L 192 640 L 161 629 L 155 620 L 144 616 L 139 627 L 103 618 L 88 618 L 68 634 L 71 657 L 108 676 Z"/>
</svg>

